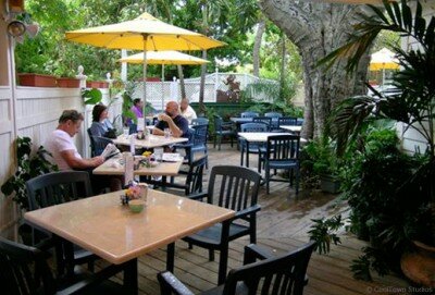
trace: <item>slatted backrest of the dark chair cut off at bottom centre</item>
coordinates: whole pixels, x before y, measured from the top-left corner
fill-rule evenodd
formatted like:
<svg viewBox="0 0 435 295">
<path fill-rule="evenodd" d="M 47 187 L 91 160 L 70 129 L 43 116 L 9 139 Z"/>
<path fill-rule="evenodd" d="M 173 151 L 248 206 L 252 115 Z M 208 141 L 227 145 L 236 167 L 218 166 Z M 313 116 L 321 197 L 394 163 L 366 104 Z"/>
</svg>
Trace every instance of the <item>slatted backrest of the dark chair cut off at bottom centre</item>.
<svg viewBox="0 0 435 295">
<path fill-rule="evenodd" d="M 311 242 L 295 251 L 231 270 L 222 294 L 237 294 L 243 286 L 247 294 L 302 295 L 313 247 Z"/>
</svg>

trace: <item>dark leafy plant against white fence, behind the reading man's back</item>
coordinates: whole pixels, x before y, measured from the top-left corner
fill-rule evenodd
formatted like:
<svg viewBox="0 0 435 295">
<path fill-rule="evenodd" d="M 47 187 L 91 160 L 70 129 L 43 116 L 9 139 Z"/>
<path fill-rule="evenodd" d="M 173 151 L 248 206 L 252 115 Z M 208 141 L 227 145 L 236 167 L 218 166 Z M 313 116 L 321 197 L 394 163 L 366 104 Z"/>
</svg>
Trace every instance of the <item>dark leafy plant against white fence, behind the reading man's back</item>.
<svg viewBox="0 0 435 295">
<path fill-rule="evenodd" d="M 28 210 L 26 182 L 38 175 L 58 171 L 58 167 L 45 158 L 47 153 L 48 151 L 42 146 L 33 153 L 29 137 L 16 138 L 16 171 L 1 185 L 1 193 L 4 196 L 12 196 L 21 209 Z"/>
</svg>

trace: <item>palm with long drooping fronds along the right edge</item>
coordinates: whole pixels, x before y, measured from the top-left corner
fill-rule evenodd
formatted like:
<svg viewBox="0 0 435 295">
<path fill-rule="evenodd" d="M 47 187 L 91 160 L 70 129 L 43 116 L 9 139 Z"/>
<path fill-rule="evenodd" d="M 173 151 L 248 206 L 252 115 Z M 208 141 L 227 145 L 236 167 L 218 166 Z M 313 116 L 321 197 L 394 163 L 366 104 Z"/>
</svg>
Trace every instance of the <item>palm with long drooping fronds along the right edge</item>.
<svg viewBox="0 0 435 295">
<path fill-rule="evenodd" d="M 356 28 L 356 35 L 346 45 L 330 53 L 322 62 L 331 65 L 338 60 L 347 60 L 347 70 L 353 71 L 361 57 L 370 49 L 382 30 L 396 32 L 410 37 L 415 44 L 403 50 L 391 45 L 399 60 L 401 71 L 395 74 L 393 84 L 396 95 L 386 96 L 375 91 L 375 97 L 360 96 L 345 100 L 333 116 L 338 152 L 358 135 L 369 119 L 390 119 L 413 130 L 426 143 L 426 161 L 415 169 L 407 184 L 420 181 L 427 192 L 427 202 L 432 208 L 432 243 L 435 245 L 435 16 L 423 17 L 423 9 L 418 1 L 412 12 L 406 0 L 400 3 L 384 0 L 384 10 L 369 5 L 374 12 Z M 406 185 L 407 185 L 406 184 Z"/>
</svg>

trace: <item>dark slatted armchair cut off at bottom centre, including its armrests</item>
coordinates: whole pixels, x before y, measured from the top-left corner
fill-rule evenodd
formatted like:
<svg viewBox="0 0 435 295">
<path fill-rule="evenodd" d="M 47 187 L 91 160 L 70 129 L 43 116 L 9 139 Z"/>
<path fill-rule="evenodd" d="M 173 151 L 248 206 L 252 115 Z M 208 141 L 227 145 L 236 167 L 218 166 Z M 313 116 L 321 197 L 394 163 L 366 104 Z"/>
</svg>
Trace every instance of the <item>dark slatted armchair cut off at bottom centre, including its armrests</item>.
<svg viewBox="0 0 435 295">
<path fill-rule="evenodd" d="M 245 246 L 244 266 L 231 270 L 223 285 L 201 294 L 302 295 L 308 284 L 306 273 L 314 245 L 311 242 L 277 257 L 257 245 Z M 158 273 L 158 280 L 162 295 L 192 294 L 169 271 Z"/>
</svg>

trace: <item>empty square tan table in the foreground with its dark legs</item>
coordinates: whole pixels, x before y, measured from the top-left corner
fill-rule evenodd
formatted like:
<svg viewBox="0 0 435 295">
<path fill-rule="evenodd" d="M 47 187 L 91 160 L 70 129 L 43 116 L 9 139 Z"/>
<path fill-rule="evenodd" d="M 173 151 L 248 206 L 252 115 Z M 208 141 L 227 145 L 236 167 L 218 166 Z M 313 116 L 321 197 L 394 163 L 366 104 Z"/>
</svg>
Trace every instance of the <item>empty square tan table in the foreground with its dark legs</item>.
<svg viewBox="0 0 435 295">
<path fill-rule="evenodd" d="M 124 285 L 138 293 L 137 258 L 167 245 L 166 269 L 174 269 L 174 242 L 234 217 L 222 207 L 149 189 L 147 206 L 133 213 L 123 192 L 29 211 L 24 219 L 114 265 L 126 263 Z"/>
</svg>

